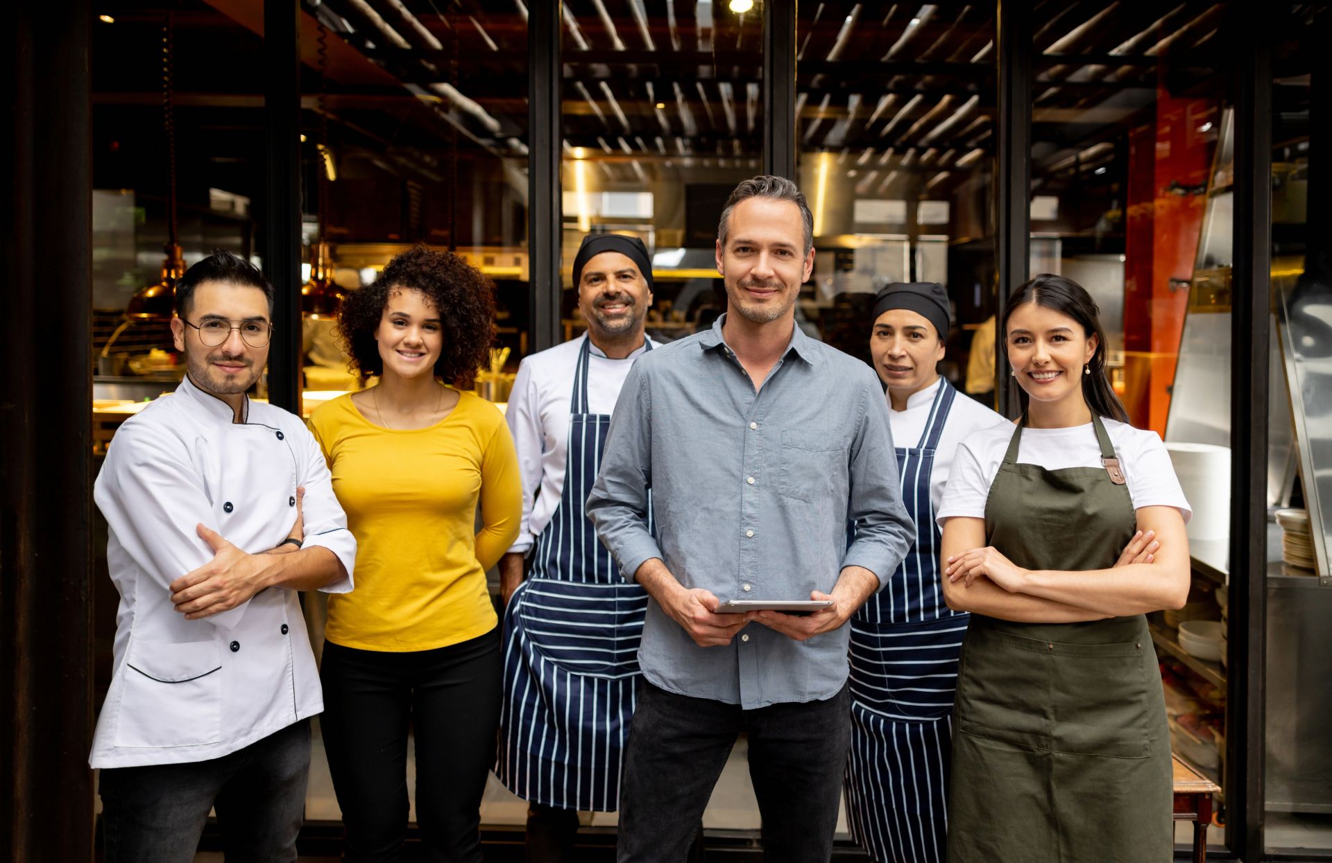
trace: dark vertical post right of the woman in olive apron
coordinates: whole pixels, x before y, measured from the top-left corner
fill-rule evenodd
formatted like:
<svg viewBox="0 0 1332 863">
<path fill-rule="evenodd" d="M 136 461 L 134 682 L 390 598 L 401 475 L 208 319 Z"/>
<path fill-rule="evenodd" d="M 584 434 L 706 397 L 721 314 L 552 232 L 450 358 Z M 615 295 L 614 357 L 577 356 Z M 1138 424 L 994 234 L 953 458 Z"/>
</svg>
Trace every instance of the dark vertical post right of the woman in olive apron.
<svg viewBox="0 0 1332 863">
<path fill-rule="evenodd" d="M 1225 689 L 1225 843 L 1264 854 L 1267 701 L 1267 450 L 1272 270 L 1271 12 L 1235 4 L 1244 35 L 1235 81 L 1235 269 L 1231 314 L 1229 678 Z"/>
</svg>

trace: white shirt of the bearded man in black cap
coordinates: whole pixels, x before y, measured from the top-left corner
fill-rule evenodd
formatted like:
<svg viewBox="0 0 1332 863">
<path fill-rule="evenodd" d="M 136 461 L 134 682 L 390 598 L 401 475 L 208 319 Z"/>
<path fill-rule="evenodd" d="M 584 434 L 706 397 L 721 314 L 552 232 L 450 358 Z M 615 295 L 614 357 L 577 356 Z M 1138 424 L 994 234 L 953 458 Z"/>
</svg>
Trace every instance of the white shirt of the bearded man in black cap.
<svg viewBox="0 0 1332 863">
<path fill-rule="evenodd" d="M 522 473 L 522 525 L 510 551 L 526 554 L 559 506 L 565 487 L 574 372 L 585 341 L 586 333 L 531 354 L 518 365 L 505 409 Z M 657 342 L 651 345 L 658 346 Z M 614 410 L 629 369 L 646 350 L 645 344 L 623 360 L 611 360 L 591 345 L 587 358 L 587 408 L 591 413 L 609 416 Z"/>
</svg>

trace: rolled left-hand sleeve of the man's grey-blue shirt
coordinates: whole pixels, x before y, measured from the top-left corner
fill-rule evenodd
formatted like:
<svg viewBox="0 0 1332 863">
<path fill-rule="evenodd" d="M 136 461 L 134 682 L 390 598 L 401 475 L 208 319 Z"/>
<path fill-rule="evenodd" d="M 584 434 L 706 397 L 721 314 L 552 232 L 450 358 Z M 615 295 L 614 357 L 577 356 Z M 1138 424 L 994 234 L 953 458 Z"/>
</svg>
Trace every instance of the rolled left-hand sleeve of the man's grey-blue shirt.
<svg viewBox="0 0 1332 863">
<path fill-rule="evenodd" d="M 597 535 L 630 581 L 639 566 L 662 557 L 647 529 L 651 474 L 651 396 L 638 364 L 619 390 L 606 432 L 601 473 L 587 497 L 587 517 Z"/>
</svg>

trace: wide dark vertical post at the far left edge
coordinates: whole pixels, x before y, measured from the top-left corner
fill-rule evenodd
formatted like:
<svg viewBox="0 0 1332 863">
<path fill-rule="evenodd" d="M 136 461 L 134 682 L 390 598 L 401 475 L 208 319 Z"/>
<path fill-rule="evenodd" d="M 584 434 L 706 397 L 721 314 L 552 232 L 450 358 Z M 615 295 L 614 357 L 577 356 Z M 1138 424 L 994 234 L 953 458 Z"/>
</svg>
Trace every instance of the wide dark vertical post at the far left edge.
<svg viewBox="0 0 1332 863">
<path fill-rule="evenodd" d="M 20 0 L 0 53 L 0 859 L 91 860 L 88 0 Z"/>
</svg>

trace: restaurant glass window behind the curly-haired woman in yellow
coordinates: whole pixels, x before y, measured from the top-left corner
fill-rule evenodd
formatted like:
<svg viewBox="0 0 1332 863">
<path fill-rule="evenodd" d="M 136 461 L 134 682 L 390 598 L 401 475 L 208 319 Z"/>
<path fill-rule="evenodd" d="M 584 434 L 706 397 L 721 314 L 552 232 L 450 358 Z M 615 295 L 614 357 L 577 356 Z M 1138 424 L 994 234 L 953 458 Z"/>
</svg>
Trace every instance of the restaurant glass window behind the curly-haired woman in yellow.
<svg viewBox="0 0 1332 863">
<path fill-rule="evenodd" d="M 409 0 L 381 16 L 358 0 L 310 0 L 302 11 L 302 39 L 313 40 L 302 45 L 304 413 L 361 386 L 330 304 L 314 296 L 360 289 L 417 242 L 457 253 L 494 282 L 497 340 L 476 389 L 502 405 L 531 332 L 525 7 Z M 490 581 L 497 594 L 496 573 Z M 306 594 L 305 614 L 320 655 L 326 597 Z M 521 824 L 525 815 L 492 776 L 482 822 Z M 305 816 L 341 819 L 317 723 Z"/>
</svg>

